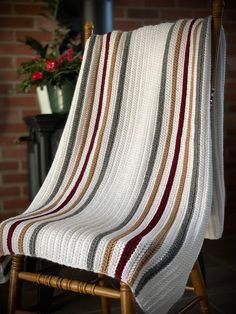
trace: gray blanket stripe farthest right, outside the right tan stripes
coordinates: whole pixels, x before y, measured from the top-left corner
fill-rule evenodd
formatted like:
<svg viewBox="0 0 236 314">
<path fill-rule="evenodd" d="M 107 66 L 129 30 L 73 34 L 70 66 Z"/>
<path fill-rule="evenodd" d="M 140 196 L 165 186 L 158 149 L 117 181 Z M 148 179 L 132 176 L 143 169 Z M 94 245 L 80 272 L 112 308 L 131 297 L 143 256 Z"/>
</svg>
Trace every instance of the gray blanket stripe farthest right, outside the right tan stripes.
<svg viewBox="0 0 236 314">
<path fill-rule="evenodd" d="M 194 213 L 195 203 L 196 203 L 196 193 L 197 193 L 197 184 L 199 177 L 199 155 L 200 155 L 200 130 L 201 130 L 201 97 L 202 97 L 202 84 L 203 84 L 203 66 L 204 66 L 204 54 L 205 54 L 205 42 L 206 42 L 206 30 L 207 30 L 207 20 L 203 22 L 202 30 L 200 34 L 199 42 L 199 54 L 198 54 L 198 64 L 197 64 L 197 85 L 196 85 L 196 115 L 195 115 L 195 133 L 194 133 L 194 160 L 193 160 L 193 171 L 192 171 L 192 180 L 190 187 L 190 195 L 188 201 L 188 210 L 185 213 L 182 226 L 173 242 L 172 246 L 169 248 L 169 251 L 166 255 L 162 256 L 161 260 L 151 269 L 149 269 L 143 277 L 140 279 L 136 289 L 135 296 L 137 296 L 143 287 L 151 280 L 158 272 L 163 268 L 168 266 L 168 264 L 174 259 L 174 257 L 179 252 L 182 247 L 186 234 L 189 229 L 189 225 Z"/>
</svg>

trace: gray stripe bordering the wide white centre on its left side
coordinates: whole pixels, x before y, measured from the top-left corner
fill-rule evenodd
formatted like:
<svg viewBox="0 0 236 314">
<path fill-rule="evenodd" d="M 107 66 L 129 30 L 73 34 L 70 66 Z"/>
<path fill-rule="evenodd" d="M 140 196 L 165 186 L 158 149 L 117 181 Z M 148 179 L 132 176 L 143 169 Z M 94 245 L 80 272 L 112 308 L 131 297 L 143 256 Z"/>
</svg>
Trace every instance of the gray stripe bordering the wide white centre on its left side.
<svg viewBox="0 0 236 314">
<path fill-rule="evenodd" d="M 53 222 L 73 217 L 73 216 L 79 214 L 82 210 L 84 210 L 89 205 L 89 203 L 92 201 L 92 199 L 94 198 L 94 196 L 95 196 L 95 194 L 96 194 L 96 192 L 97 192 L 97 190 L 98 190 L 98 188 L 99 188 L 99 186 L 100 186 L 100 184 L 101 184 L 101 182 L 105 176 L 106 169 L 107 169 L 107 166 L 108 166 L 108 163 L 110 160 L 110 155 L 111 155 L 111 151 L 113 148 L 116 132 L 117 132 L 119 117 L 120 117 L 120 109 L 121 109 L 121 104 L 122 104 L 124 80 L 125 80 L 125 73 L 126 73 L 126 63 L 127 63 L 127 58 L 128 58 L 129 43 L 130 43 L 131 34 L 132 34 L 131 32 L 127 33 L 127 37 L 126 37 L 126 41 L 125 41 L 125 47 L 124 47 L 124 52 L 123 52 L 123 57 L 122 57 L 122 65 L 121 65 L 121 70 L 120 70 L 120 80 L 119 80 L 119 85 L 118 85 L 118 90 L 117 90 L 117 99 L 116 99 L 116 104 L 115 104 L 115 111 L 114 111 L 114 115 L 113 115 L 113 120 L 112 120 L 111 132 L 109 135 L 109 140 L 108 140 L 108 145 L 107 145 L 107 149 L 106 149 L 106 153 L 105 153 L 105 157 L 104 157 L 104 162 L 103 162 L 101 172 L 99 174 L 98 181 L 96 182 L 91 194 L 89 195 L 89 197 L 87 198 L 87 200 L 85 201 L 85 203 L 81 207 L 79 207 L 73 214 L 68 215 L 67 217 L 56 219 Z M 32 237 L 30 239 L 30 254 L 35 254 L 35 243 L 36 243 L 37 235 L 38 235 L 39 231 L 44 226 L 46 226 L 48 223 L 50 223 L 50 222 L 42 223 L 40 226 L 38 226 L 34 230 L 34 233 L 32 234 Z"/>
</svg>

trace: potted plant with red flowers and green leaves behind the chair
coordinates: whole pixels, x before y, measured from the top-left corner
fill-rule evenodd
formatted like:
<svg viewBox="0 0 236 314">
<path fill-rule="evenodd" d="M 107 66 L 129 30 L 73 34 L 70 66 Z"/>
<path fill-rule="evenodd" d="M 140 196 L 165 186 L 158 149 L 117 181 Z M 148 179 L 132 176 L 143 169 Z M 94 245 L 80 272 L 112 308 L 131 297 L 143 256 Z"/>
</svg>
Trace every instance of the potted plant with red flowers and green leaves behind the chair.
<svg viewBox="0 0 236 314">
<path fill-rule="evenodd" d="M 51 42 L 43 45 L 32 37 L 26 37 L 24 41 L 34 50 L 35 56 L 21 63 L 18 69 L 18 74 L 23 76 L 19 89 L 28 92 L 35 86 L 40 107 L 48 106 L 49 101 L 52 112 L 68 112 L 82 56 L 80 35 L 56 20 L 58 3 L 55 0 L 49 1 L 44 8 L 49 12 L 46 17 L 54 24 Z"/>
</svg>

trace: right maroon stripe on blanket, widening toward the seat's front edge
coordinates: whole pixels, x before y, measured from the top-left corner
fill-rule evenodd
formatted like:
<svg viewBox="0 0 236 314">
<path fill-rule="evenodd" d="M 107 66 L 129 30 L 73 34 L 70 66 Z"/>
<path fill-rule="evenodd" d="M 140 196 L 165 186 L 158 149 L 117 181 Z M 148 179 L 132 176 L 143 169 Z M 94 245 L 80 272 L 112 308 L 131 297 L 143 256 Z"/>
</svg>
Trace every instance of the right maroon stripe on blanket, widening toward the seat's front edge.
<svg viewBox="0 0 236 314">
<path fill-rule="evenodd" d="M 116 267 L 115 276 L 116 278 L 121 279 L 122 272 L 124 270 L 124 267 L 126 265 L 126 262 L 131 257 L 132 253 L 135 251 L 135 248 L 139 244 L 139 242 L 142 240 L 142 238 L 147 235 L 158 223 L 160 220 L 166 204 L 168 202 L 170 191 L 173 185 L 178 159 L 179 159 L 179 152 L 180 152 L 180 144 L 181 144 L 181 137 L 183 133 L 183 124 L 184 124 L 184 114 L 185 114 L 185 107 L 186 107 L 186 94 L 187 94 L 187 80 L 188 80 L 188 62 L 189 62 L 189 47 L 190 47 L 190 34 L 192 30 L 192 26 L 194 24 L 195 20 L 193 20 L 190 24 L 189 31 L 188 31 L 188 37 L 187 37 L 187 43 L 186 43 L 186 50 L 185 50 L 185 56 L 184 56 L 184 73 L 183 73 L 183 89 L 182 89 L 182 97 L 181 97 L 181 106 L 180 106 L 180 116 L 179 116 L 179 125 L 178 125 L 178 131 L 176 136 L 176 143 L 175 143 L 175 151 L 174 151 L 174 157 L 173 162 L 171 165 L 171 170 L 169 173 L 168 181 L 166 184 L 166 188 L 164 191 L 164 194 L 162 196 L 160 205 L 153 216 L 152 220 L 149 222 L 147 227 L 143 229 L 142 232 L 137 234 L 134 238 L 130 239 L 127 244 L 125 245 L 124 251 L 121 255 L 121 258 L 119 260 L 119 263 Z"/>
</svg>

